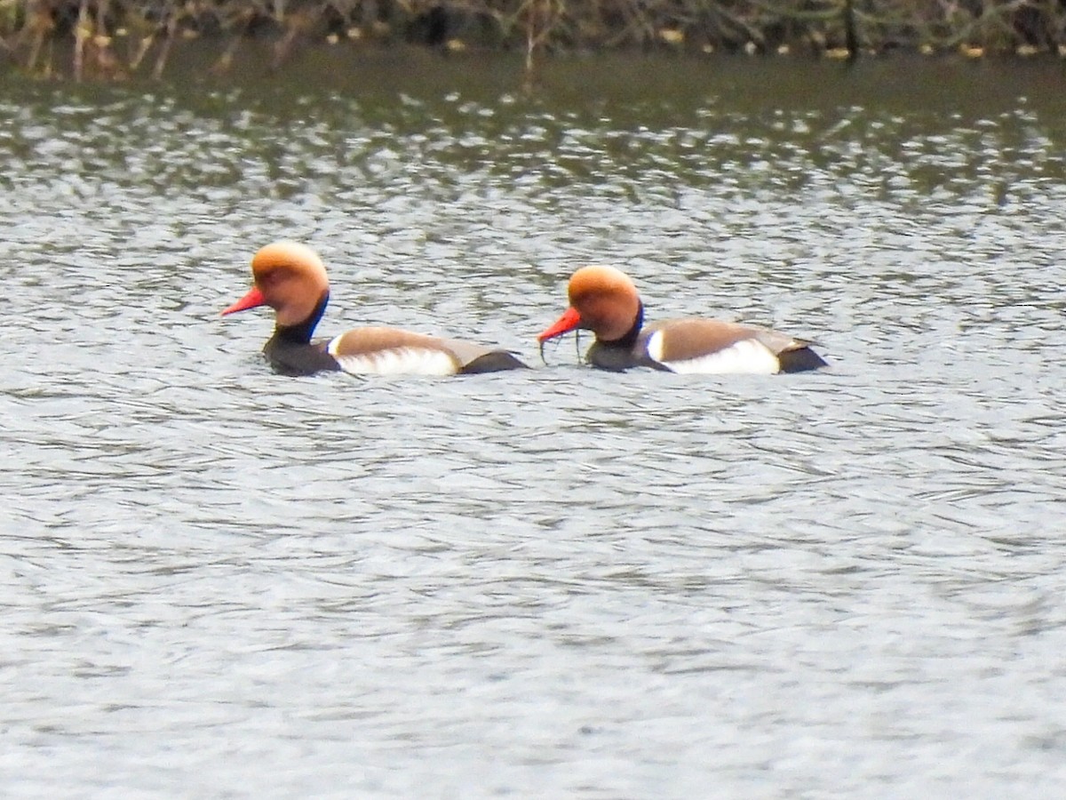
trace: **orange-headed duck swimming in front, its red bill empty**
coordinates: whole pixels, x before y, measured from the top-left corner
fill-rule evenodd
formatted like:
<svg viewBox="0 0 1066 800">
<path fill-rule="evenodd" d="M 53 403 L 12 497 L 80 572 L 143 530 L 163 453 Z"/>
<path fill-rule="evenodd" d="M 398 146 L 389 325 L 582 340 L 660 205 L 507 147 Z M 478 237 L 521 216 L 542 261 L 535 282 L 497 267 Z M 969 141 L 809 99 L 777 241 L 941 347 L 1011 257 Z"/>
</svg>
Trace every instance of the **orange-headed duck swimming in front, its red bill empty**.
<svg viewBox="0 0 1066 800">
<path fill-rule="evenodd" d="M 355 327 L 312 340 L 329 302 L 329 279 L 318 253 L 301 242 L 278 241 L 259 250 L 252 258 L 252 278 L 248 292 L 222 315 L 273 308 L 274 335 L 263 355 L 281 374 L 454 375 L 526 368 L 502 348 L 397 327 Z"/>
</svg>

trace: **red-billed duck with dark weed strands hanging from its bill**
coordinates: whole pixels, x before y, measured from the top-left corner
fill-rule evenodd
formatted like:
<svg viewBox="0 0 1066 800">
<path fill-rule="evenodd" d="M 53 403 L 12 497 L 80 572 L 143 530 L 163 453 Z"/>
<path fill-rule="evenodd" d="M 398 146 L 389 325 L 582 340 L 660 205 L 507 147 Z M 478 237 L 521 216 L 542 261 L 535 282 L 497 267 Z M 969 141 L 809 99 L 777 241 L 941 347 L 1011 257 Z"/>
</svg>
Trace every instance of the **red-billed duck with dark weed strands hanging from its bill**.
<svg viewBox="0 0 1066 800">
<path fill-rule="evenodd" d="M 811 342 L 769 327 L 700 318 L 645 325 L 636 286 L 614 267 L 582 267 L 570 276 L 567 294 L 569 308 L 537 336 L 542 355 L 549 339 L 589 330 L 596 340 L 585 359 L 612 371 L 651 367 L 688 374 L 775 374 L 828 366 Z"/>
</svg>

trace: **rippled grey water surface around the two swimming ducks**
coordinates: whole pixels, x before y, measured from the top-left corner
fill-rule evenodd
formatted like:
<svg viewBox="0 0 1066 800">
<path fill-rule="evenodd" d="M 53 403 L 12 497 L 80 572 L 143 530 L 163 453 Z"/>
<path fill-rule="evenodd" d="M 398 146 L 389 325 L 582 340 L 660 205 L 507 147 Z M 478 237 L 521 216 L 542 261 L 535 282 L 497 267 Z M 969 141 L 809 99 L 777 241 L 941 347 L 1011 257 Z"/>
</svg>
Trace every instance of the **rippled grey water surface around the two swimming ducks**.
<svg viewBox="0 0 1066 800">
<path fill-rule="evenodd" d="M 314 58 L 0 100 L 5 795 L 1062 786 L 1056 67 Z M 281 237 L 323 333 L 540 366 L 600 261 L 834 366 L 281 378 Z"/>
</svg>

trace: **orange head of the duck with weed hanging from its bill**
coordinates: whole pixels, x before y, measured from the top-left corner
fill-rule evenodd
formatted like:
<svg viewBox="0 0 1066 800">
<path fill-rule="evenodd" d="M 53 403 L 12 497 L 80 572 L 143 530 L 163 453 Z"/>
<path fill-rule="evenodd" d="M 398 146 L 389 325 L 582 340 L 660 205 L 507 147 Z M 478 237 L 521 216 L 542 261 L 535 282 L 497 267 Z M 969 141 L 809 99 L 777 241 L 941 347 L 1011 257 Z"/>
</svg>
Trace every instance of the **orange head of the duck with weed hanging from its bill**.
<svg viewBox="0 0 1066 800">
<path fill-rule="evenodd" d="M 570 307 L 537 336 L 537 341 L 545 342 L 579 327 L 592 331 L 601 341 L 615 341 L 633 330 L 641 314 L 636 287 L 626 273 L 614 267 L 582 267 L 570 276 L 567 294 Z"/>
</svg>

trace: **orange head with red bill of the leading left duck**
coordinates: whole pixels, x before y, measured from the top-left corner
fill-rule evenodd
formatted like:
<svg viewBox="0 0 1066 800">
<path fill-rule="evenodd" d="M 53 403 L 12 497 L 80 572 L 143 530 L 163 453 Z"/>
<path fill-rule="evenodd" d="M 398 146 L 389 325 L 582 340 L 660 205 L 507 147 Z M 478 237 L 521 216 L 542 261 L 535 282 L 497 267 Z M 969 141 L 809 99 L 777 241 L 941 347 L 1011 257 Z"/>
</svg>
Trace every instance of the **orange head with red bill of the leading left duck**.
<svg viewBox="0 0 1066 800">
<path fill-rule="evenodd" d="M 298 242 L 274 242 L 252 258 L 253 286 L 223 315 L 269 305 L 278 325 L 306 320 L 329 292 L 326 268 L 318 253 Z"/>
</svg>

